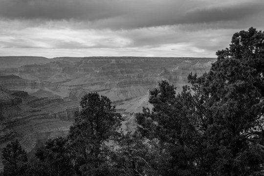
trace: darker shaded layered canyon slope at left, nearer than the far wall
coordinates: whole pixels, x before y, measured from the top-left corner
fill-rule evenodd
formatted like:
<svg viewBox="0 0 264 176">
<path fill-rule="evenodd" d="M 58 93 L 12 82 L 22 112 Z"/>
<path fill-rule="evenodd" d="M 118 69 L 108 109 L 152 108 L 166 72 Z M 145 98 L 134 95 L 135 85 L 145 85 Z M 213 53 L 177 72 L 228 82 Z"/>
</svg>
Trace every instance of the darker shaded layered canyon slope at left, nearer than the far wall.
<svg viewBox="0 0 264 176">
<path fill-rule="evenodd" d="M 78 106 L 67 107 L 59 96 L 36 97 L 1 87 L 0 103 L 0 149 L 11 140 L 18 139 L 27 152 L 47 138 L 66 136 L 74 118 L 73 113 L 78 110 Z M 60 106 L 56 110 L 48 108 L 58 107 L 57 104 Z M 66 115 L 58 115 L 57 110 Z M 0 160 L 0 168 L 1 164 Z"/>
</svg>

